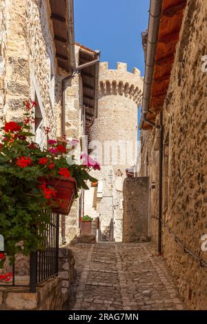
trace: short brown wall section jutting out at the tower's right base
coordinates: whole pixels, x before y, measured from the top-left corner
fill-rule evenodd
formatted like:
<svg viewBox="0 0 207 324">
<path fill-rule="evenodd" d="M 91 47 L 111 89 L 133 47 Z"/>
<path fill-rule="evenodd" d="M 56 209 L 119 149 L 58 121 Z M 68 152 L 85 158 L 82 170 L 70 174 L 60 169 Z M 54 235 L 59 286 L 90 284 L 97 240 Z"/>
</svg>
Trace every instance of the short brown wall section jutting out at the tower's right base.
<svg viewBox="0 0 207 324">
<path fill-rule="evenodd" d="M 149 178 L 124 180 L 123 241 L 148 240 Z"/>
</svg>

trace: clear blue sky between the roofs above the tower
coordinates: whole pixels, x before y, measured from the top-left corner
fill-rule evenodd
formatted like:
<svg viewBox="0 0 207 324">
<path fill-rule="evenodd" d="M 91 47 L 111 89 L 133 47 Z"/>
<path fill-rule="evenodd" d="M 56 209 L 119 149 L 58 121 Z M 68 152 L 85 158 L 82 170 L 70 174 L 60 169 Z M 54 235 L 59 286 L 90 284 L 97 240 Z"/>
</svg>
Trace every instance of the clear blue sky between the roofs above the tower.
<svg viewBox="0 0 207 324">
<path fill-rule="evenodd" d="M 141 32 L 148 27 L 150 0 L 74 0 L 75 40 L 101 50 L 101 61 L 137 67 L 144 76 Z"/>
</svg>

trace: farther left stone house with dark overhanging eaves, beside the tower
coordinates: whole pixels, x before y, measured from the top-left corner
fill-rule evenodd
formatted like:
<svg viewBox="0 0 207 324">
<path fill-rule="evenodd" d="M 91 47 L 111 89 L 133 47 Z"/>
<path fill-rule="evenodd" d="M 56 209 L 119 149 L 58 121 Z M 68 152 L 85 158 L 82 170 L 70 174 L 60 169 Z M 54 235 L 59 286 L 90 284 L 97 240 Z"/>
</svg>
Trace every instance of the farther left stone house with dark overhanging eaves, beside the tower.
<svg viewBox="0 0 207 324">
<path fill-rule="evenodd" d="M 81 152 L 88 153 L 90 128 L 96 117 L 99 76 L 99 51 L 90 50 L 75 43 L 75 65 L 77 70 L 66 80 L 66 117 L 65 134 L 69 141 L 77 140 L 73 154 L 77 163 L 81 163 Z M 93 62 L 95 61 L 95 64 Z M 91 63 L 88 68 L 79 70 L 79 66 Z M 80 234 L 79 218 L 83 211 L 83 190 L 72 204 L 70 214 L 61 216 L 61 242 L 70 243 Z"/>
</svg>

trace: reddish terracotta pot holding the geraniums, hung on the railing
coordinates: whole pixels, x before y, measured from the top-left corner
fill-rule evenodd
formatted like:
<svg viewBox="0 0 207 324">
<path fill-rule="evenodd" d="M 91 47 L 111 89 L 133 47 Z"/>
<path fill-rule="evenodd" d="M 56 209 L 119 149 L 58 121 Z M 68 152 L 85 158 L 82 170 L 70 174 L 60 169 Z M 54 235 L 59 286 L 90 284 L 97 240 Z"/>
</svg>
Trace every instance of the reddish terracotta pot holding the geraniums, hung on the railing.
<svg viewBox="0 0 207 324">
<path fill-rule="evenodd" d="M 52 210 L 62 215 L 68 215 L 77 194 L 77 182 L 75 178 L 54 178 L 54 179 L 39 179 L 42 183 L 46 182 L 47 185 L 55 189 L 55 201 Z M 51 203 L 51 201 L 48 201 Z"/>
</svg>

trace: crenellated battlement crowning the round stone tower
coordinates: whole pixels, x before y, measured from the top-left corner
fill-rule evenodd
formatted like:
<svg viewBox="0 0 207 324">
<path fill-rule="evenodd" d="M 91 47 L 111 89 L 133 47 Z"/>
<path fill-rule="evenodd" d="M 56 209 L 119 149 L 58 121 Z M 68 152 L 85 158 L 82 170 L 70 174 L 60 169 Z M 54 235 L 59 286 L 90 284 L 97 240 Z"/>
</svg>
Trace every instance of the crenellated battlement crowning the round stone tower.
<svg viewBox="0 0 207 324">
<path fill-rule="evenodd" d="M 137 68 L 128 72 L 127 63 L 117 62 L 117 69 L 109 69 L 108 62 L 101 62 L 99 68 L 99 97 L 110 94 L 132 99 L 139 105 L 143 90 L 143 78 Z"/>
</svg>

